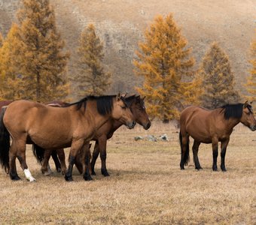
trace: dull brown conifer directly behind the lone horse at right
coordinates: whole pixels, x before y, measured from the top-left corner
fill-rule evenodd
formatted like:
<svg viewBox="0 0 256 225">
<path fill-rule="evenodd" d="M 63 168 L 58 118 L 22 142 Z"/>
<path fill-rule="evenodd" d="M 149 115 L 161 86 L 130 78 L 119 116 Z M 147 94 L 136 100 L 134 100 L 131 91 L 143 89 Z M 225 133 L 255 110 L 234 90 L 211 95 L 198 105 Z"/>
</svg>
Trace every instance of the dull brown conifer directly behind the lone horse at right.
<svg viewBox="0 0 256 225">
<path fill-rule="evenodd" d="M 200 65 L 200 74 L 203 78 L 203 107 L 215 109 L 239 101 L 229 58 L 218 43 L 212 43 L 206 52 Z"/>
</svg>

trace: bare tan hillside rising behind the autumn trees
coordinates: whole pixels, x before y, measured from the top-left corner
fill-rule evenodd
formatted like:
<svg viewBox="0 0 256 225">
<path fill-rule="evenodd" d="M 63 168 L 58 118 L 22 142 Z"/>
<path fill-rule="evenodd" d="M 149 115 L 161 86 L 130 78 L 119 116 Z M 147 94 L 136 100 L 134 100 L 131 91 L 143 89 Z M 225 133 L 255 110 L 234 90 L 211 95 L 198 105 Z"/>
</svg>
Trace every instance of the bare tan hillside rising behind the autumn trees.
<svg viewBox="0 0 256 225">
<path fill-rule="evenodd" d="M 75 49 L 84 26 L 94 23 L 105 45 L 105 64 L 114 74 L 111 92 L 133 92 L 142 80 L 133 75 L 133 57 L 145 28 L 157 14 L 173 13 L 197 64 L 216 40 L 230 56 L 236 86 L 248 76 L 251 40 L 256 28 L 256 0 L 52 0 L 59 31 L 72 53 L 69 74 L 75 73 Z M 18 1 L 0 0 L 0 31 L 6 34 Z"/>
</svg>

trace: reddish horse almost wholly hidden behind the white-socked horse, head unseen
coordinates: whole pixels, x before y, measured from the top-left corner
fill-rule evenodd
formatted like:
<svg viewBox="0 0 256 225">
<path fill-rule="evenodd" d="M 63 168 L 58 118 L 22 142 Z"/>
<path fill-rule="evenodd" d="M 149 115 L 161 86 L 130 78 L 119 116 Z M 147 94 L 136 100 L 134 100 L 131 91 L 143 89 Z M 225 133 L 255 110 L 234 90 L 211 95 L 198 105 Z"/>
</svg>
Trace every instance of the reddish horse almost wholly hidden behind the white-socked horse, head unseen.
<svg viewBox="0 0 256 225">
<path fill-rule="evenodd" d="M 13 101 L 0 101 L 0 112 L 2 110 L 3 107 L 7 107 L 9 104 L 11 104 Z M 51 107 L 64 107 L 67 105 L 66 102 L 63 101 L 50 101 L 47 103 L 48 106 Z M 65 154 L 64 151 L 62 149 L 57 149 L 57 150 L 53 150 L 51 151 L 50 156 L 53 158 L 53 161 L 55 163 L 55 167 L 56 167 L 56 171 L 57 172 L 65 172 L 66 170 L 66 163 L 62 163 L 63 160 L 65 160 Z M 64 157 L 64 158 L 63 158 Z M 62 163 L 59 163 L 60 162 Z M 38 159 L 38 162 L 40 163 L 40 160 Z M 48 174 L 50 174 L 52 171 L 50 169 L 50 166 L 48 164 L 47 166 L 47 172 Z"/>
</svg>

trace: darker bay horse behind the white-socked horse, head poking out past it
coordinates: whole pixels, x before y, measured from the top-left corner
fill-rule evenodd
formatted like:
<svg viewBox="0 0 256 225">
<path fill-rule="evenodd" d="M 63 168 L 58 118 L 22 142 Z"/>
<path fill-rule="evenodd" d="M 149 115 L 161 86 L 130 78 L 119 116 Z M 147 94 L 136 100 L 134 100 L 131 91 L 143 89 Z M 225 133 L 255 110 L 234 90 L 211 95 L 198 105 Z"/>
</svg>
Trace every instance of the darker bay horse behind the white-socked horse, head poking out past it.
<svg viewBox="0 0 256 225">
<path fill-rule="evenodd" d="M 133 113 L 133 118 L 136 121 L 136 123 L 139 123 L 144 127 L 145 130 L 148 130 L 149 127 L 151 127 L 151 121 L 148 118 L 148 114 L 145 110 L 145 104 L 144 104 L 144 98 L 140 98 L 139 95 L 130 95 L 129 97 L 125 98 L 126 102 L 130 104 L 130 110 Z M 106 161 L 106 145 L 107 145 L 107 139 L 110 139 L 111 136 L 113 136 L 113 133 L 115 130 L 117 130 L 123 123 L 121 121 L 115 120 L 115 119 L 109 119 L 102 127 L 100 127 L 98 130 L 96 130 L 95 135 L 93 136 L 92 140 L 96 141 L 96 145 L 94 147 L 93 151 L 93 159 L 90 163 L 91 167 L 91 174 L 96 175 L 94 171 L 94 166 L 96 163 L 96 159 L 99 156 L 102 160 L 102 175 L 108 176 L 108 170 L 106 169 L 105 161 Z M 36 146 L 35 146 L 36 148 Z M 38 150 L 38 155 L 42 155 L 44 157 L 43 163 L 42 163 L 42 172 L 46 172 L 47 170 L 47 163 L 48 159 L 50 157 L 50 150 L 46 149 L 44 152 L 41 151 L 40 148 L 36 148 Z M 84 158 L 78 154 L 75 158 L 75 166 L 77 166 L 78 171 L 82 174 L 84 170 Z M 62 162 L 63 163 L 63 162 Z M 64 162 L 65 163 L 65 162 Z"/>
</svg>

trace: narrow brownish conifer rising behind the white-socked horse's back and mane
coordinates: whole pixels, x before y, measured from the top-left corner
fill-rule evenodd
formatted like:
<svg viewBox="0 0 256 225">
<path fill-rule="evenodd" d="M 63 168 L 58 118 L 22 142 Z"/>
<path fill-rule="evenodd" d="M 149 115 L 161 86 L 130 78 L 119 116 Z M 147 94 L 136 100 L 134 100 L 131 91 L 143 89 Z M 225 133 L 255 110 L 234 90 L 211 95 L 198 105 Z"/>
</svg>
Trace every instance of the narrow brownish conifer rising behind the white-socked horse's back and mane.
<svg viewBox="0 0 256 225">
<path fill-rule="evenodd" d="M 93 24 L 81 32 L 78 47 L 78 75 L 75 77 L 78 98 L 84 95 L 102 95 L 110 86 L 110 73 L 102 66 L 103 45 Z"/>
</svg>

